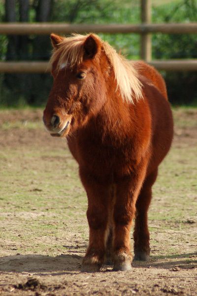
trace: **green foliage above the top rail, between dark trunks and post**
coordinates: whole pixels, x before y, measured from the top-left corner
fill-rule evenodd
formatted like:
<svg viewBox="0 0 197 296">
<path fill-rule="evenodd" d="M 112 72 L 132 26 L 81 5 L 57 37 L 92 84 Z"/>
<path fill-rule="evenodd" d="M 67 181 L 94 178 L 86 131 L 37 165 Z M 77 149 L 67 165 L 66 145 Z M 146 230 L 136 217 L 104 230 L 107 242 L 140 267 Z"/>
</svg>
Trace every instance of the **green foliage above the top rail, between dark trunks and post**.
<svg viewBox="0 0 197 296">
<path fill-rule="evenodd" d="M 78 24 L 138 22 L 139 3 L 136 0 L 56 0 L 52 20 Z"/>
</svg>

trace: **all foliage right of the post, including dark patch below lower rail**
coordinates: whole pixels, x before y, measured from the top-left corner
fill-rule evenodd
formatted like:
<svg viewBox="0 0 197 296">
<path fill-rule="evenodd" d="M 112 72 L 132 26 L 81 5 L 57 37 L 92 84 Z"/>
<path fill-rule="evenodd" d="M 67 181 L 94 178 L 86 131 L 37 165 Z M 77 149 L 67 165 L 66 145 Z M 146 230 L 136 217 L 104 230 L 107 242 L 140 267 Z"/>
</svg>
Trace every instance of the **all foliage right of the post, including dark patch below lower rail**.
<svg viewBox="0 0 197 296">
<path fill-rule="evenodd" d="M 153 22 L 180 23 L 197 21 L 197 2 L 178 0 L 153 9 Z M 154 59 L 196 59 L 196 34 L 155 34 L 152 39 Z M 176 105 L 197 105 L 197 73 L 166 72 L 169 100 Z"/>
</svg>

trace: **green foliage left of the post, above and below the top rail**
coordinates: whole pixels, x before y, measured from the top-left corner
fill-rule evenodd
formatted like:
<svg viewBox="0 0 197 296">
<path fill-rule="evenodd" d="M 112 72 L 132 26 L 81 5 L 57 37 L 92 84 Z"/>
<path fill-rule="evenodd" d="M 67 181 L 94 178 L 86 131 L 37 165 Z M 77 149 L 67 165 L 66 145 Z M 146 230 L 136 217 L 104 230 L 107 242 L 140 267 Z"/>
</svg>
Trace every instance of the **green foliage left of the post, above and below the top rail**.
<svg viewBox="0 0 197 296">
<path fill-rule="evenodd" d="M 88 13 L 87 13 L 88 11 Z M 56 1 L 52 21 L 86 24 L 139 23 L 139 1 L 68 0 Z M 135 34 L 99 34 L 128 58 L 139 58 L 139 36 Z"/>
</svg>

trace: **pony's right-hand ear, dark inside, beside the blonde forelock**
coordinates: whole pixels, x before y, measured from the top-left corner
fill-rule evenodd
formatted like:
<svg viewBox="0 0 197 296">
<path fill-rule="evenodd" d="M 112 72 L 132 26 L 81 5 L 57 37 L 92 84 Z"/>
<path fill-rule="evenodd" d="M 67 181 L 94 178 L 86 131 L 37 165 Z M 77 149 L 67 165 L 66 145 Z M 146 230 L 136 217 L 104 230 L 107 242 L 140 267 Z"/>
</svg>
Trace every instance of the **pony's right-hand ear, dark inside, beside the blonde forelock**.
<svg viewBox="0 0 197 296">
<path fill-rule="evenodd" d="M 99 51 L 99 40 L 93 35 L 89 35 L 84 42 L 84 55 L 89 59 L 93 59 Z"/>
</svg>

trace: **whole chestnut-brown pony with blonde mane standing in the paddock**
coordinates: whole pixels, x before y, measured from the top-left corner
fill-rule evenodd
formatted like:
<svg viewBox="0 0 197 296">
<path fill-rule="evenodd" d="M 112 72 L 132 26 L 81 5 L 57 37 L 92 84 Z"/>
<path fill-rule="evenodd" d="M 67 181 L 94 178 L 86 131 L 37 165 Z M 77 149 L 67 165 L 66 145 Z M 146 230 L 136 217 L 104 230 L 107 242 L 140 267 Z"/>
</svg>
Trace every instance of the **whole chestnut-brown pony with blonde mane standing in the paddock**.
<svg viewBox="0 0 197 296">
<path fill-rule="evenodd" d="M 149 259 L 152 185 L 173 137 L 164 80 L 94 34 L 51 40 L 54 84 L 43 121 L 52 136 L 67 137 L 87 192 L 82 271 L 99 271 L 106 257 L 114 270 L 129 270 L 133 219 L 134 259 Z"/>
</svg>

